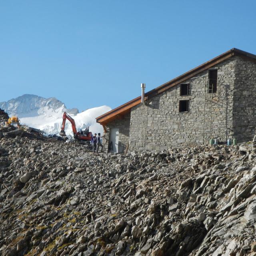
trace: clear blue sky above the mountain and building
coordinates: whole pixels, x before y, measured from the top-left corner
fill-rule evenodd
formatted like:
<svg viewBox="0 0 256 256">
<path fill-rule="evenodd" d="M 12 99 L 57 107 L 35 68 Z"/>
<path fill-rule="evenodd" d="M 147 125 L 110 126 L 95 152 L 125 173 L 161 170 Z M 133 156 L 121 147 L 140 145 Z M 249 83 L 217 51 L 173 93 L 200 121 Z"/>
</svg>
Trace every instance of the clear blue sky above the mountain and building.
<svg viewBox="0 0 256 256">
<path fill-rule="evenodd" d="M 226 52 L 256 54 L 255 0 L 0 1 L 0 102 L 119 106 Z"/>
</svg>

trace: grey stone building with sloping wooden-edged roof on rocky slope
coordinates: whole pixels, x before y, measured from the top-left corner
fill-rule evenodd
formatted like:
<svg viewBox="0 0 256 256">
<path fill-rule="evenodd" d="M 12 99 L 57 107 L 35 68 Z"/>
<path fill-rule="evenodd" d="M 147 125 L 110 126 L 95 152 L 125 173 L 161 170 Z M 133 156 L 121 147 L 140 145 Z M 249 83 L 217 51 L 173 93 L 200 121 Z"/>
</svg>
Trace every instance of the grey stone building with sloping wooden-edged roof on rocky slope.
<svg viewBox="0 0 256 256">
<path fill-rule="evenodd" d="M 161 150 L 252 140 L 256 128 L 256 55 L 233 48 L 96 118 L 105 150 Z"/>
</svg>

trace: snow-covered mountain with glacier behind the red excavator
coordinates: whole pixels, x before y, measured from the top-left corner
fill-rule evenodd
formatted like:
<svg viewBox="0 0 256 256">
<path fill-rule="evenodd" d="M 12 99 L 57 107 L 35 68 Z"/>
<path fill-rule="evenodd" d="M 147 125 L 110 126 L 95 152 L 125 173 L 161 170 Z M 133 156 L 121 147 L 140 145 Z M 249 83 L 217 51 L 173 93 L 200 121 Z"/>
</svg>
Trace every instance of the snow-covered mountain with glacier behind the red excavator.
<svg viewBox="0 0 256 256">
<path fill-rule="evenodd" d="M 60 132 L 64 112 L 74 118 L 78 131 L 90 126 L 91 132 L 103 133 L 102 126 L 96 123 L 95 118 L 111 110 L 108 106 L 100 106 L 78 113 L 77 108 L 67 109 L 63 102 L 54 97 L 46 99 L 32 94 L 24 94 L 7 102 L 0 102 L 0 108 L 9 116 L 18 116 L 21 124 L 43 130 L 46 134 Z M 67 135 L 73 136 L 72 126 L 68 120 L 65 131 Z"/>
</svg>

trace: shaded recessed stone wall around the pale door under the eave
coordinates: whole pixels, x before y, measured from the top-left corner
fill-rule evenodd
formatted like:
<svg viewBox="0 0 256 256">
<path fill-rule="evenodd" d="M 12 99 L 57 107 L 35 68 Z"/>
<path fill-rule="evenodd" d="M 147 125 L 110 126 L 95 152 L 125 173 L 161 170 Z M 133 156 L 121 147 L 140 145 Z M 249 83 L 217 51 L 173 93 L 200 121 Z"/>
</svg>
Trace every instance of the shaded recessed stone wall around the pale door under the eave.
<svg viewBox="0 0 256 256">
<path fill-rule="evenodd" d="M 129 143 L 130 114 L 124 116 L 123 119 L 116 119 L 108 123 L 108 126 L 106 127 L 107 132 L 105 133 L 105 138 L 103 140 L 104 152 L 108 152 L 111 128 L 119 128 L 118 153 L 122 153 Z"/>
</svg>

